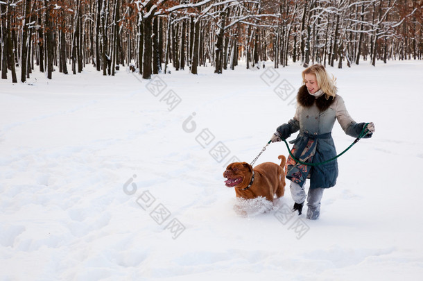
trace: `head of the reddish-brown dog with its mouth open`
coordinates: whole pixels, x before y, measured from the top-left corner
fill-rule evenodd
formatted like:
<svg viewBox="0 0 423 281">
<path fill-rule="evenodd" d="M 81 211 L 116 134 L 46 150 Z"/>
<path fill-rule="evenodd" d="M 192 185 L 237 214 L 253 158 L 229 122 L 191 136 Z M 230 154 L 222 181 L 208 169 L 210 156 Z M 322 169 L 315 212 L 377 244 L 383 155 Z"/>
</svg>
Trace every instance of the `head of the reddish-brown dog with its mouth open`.
<svg viewBox="0 0 423 281">
<path fill-rule="evenodd" d="M 235 162 L 229 164 L 223 173 L 227 187 L 245 188 L 250 183 L 252 167 L 247 162 Z"/>
</svg>

